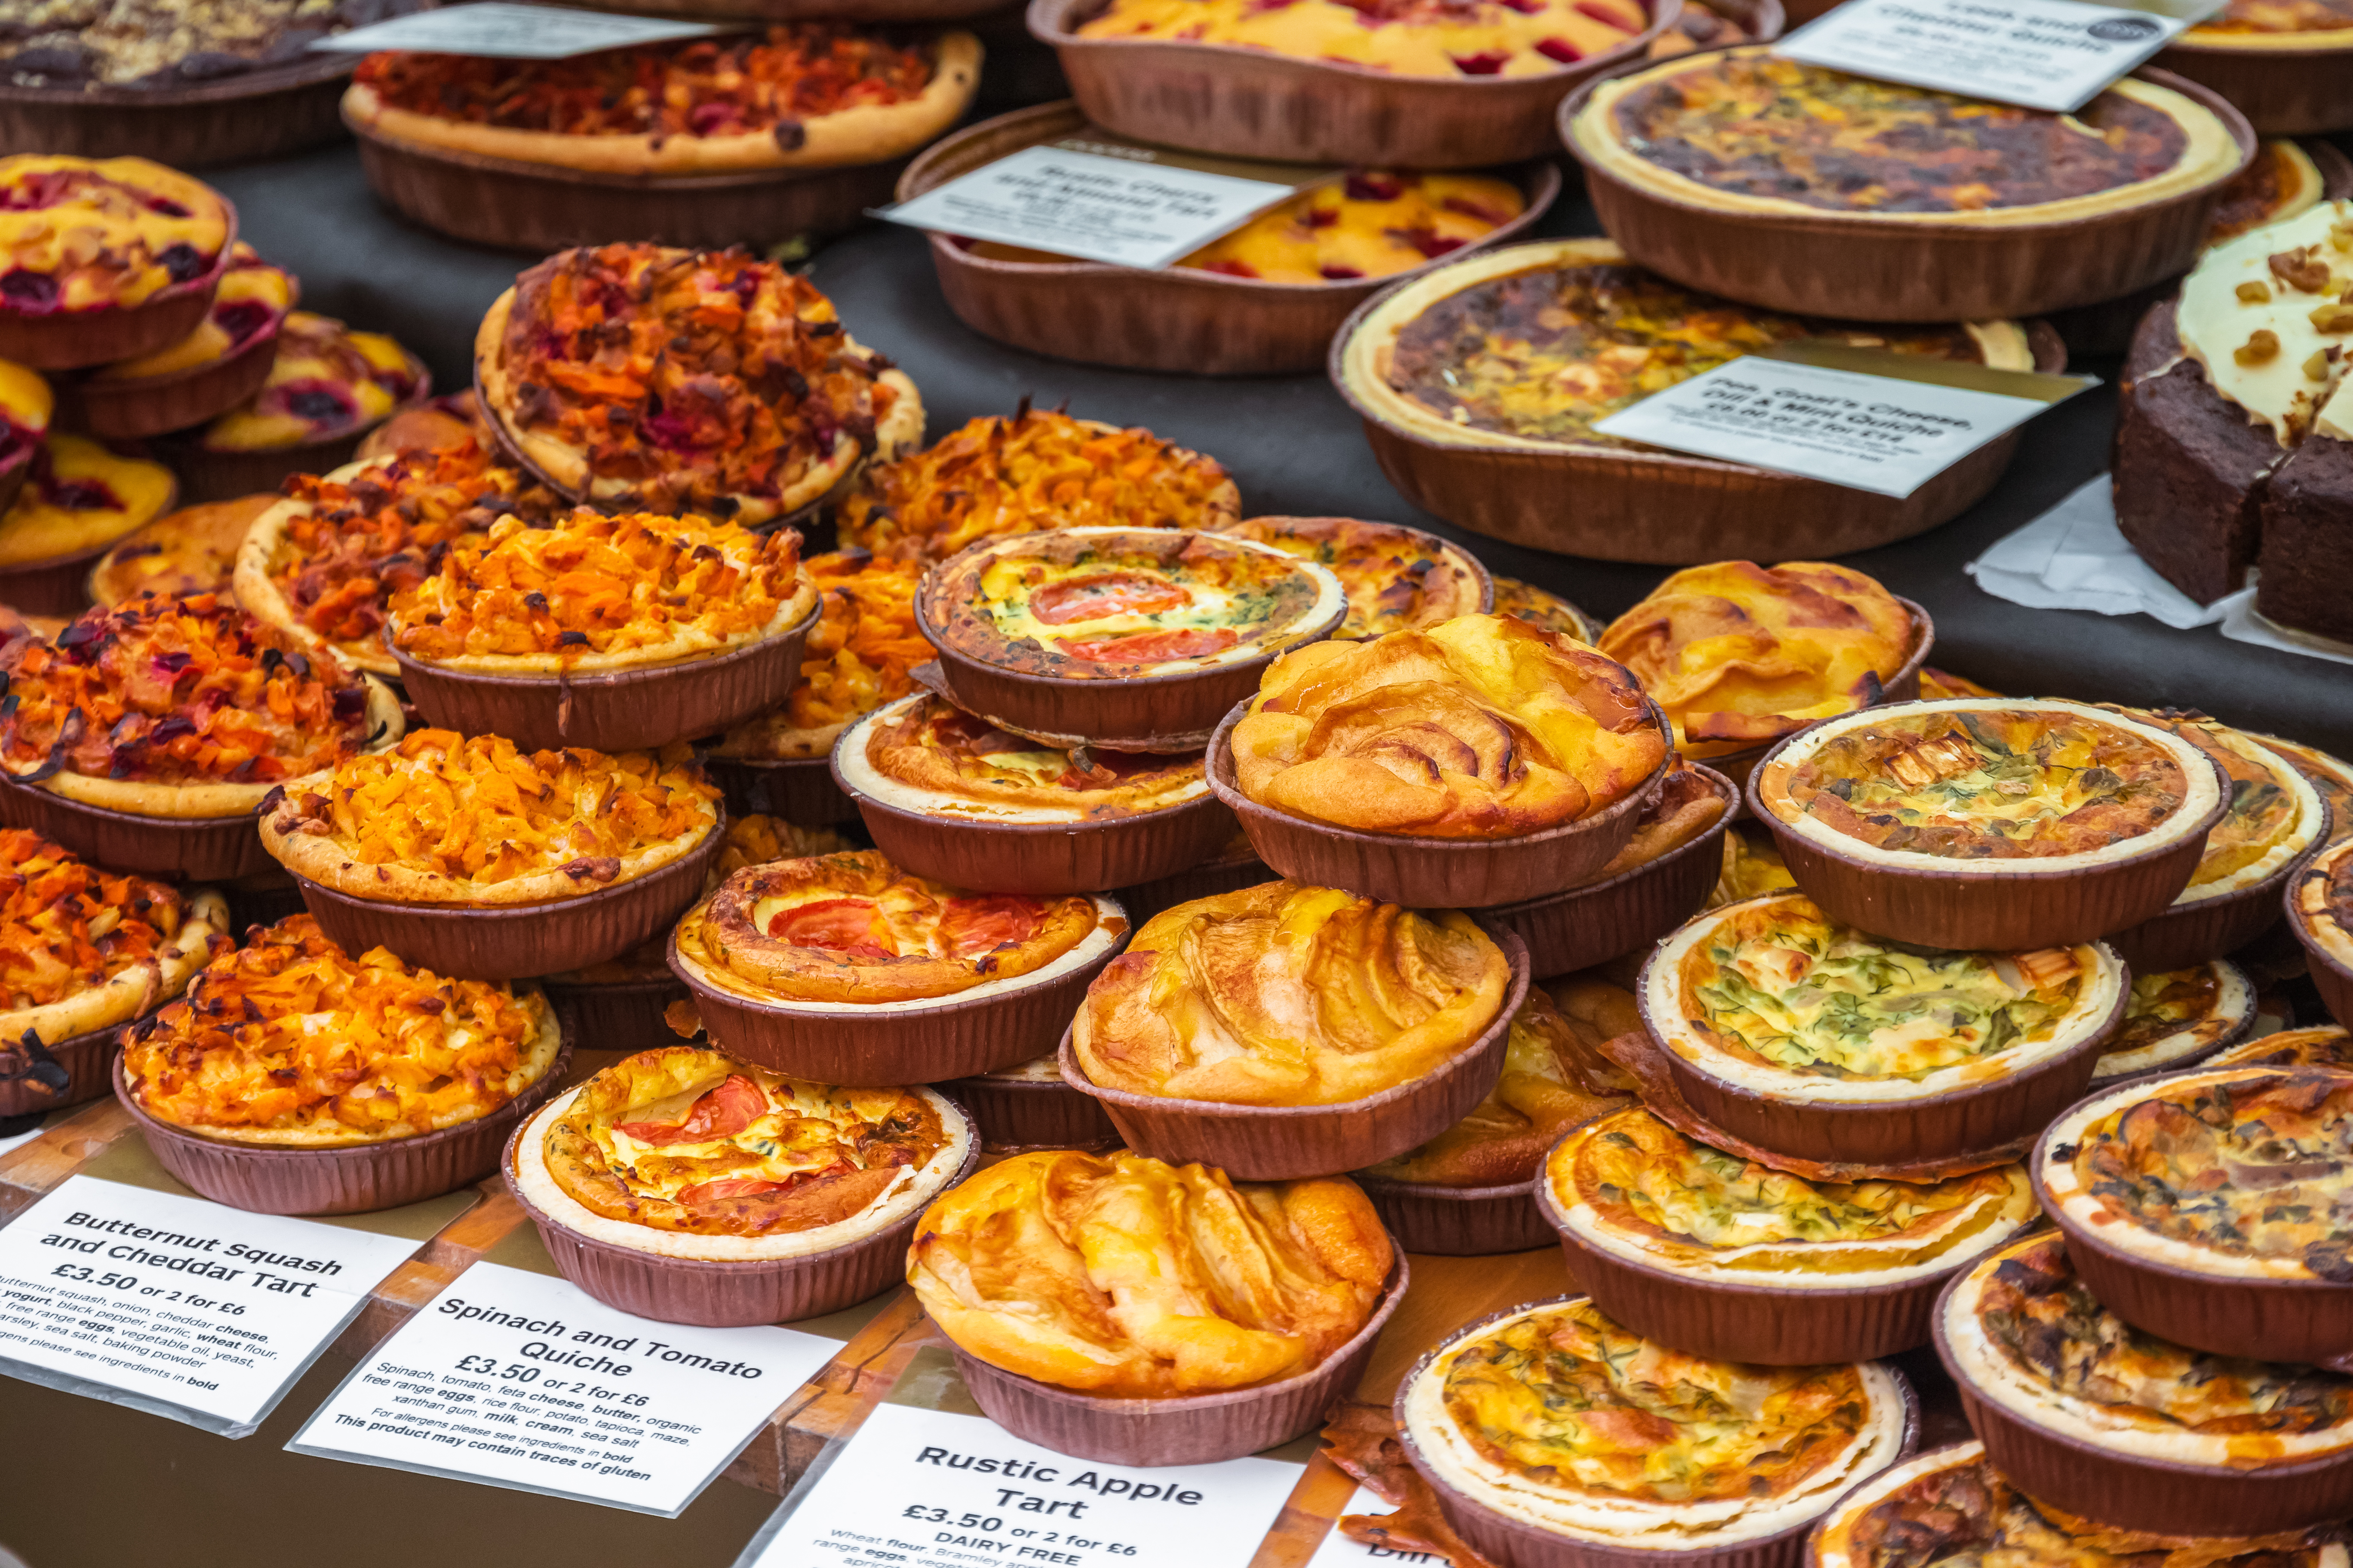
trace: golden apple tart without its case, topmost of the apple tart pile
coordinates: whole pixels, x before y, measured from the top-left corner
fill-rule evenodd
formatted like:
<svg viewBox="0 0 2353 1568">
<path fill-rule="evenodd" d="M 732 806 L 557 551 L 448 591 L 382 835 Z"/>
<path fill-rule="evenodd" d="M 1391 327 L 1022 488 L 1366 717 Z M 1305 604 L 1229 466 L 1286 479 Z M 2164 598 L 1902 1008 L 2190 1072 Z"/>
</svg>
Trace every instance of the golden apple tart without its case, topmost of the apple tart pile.
<svg viewBox="0 0 2353 1568">
<path fill-rule="evenodd" d="M 1261 806 L 1435 839 L 1562 827 L 1666 755 L 1628 670 L 1513 616 L 1294 649 L 1233 726 L 1235 783 Z"/>
</svg>

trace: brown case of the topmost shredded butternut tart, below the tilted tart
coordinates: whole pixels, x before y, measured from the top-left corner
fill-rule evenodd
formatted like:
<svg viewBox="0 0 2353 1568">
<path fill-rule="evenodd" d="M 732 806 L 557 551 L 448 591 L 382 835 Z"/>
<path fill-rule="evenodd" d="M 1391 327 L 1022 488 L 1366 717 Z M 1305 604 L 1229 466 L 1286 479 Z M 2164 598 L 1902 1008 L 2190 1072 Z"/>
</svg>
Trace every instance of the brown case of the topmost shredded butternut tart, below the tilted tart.
<svg viewBox="0 0 2353 1568">
<path fill-rule="evenodd" d="M 400 684 L 428 724 L 506 736 L 532 752 L 586 745 L 649 752 L 711 736 L 781 703 L 800 679 L 800 649 L 824 602 L 781 632 L 704 658 L 593 675 L 475 675 L 409 658 L 384 628 Z"/>
</svg>

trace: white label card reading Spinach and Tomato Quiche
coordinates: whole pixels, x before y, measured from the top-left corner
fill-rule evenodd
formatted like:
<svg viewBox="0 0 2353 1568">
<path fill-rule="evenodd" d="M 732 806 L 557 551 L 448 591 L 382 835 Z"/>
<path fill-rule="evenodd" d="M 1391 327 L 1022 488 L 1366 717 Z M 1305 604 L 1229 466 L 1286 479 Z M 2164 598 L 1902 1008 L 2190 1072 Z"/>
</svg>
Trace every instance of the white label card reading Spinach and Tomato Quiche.
<svg viewBox="0 0 2353 1568">
<path fill-rule="evenodd" d="M 287 1450 L 675 1519 L 833 1352 L 793 1328 L 654 1324 L 478 1262 Z"/>
</svg>

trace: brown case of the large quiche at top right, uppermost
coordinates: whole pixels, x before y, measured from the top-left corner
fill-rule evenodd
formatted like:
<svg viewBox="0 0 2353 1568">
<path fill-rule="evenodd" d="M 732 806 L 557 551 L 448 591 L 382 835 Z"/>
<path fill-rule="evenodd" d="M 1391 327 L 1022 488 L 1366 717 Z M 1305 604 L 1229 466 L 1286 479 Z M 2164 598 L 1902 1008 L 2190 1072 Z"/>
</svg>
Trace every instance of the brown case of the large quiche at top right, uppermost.
<svg viewBox="0 0 2353 1568">
<path fill-rule="evenodd" d="M 1722 49 L 1682 54 L 1678 63 L 1708 54 Z M 2224 186 L 2254 155 L 2254 129 L 2209 87 L 2169 71 L 2137 75 L 2212 110 L 2238 143 L 2238 158 L 2177 195 L 2049 223 L 1720 212 L 1631 183 L 1584 146 L 1577 120 L 1600 82 L 1588 82 L 1562 103 L 1558 125 L 1560 139 L 1586 167 L 1586 195 L 1602 228 L 1664 277 L 1793 315 L 1984 322 L 2115 299 L 2186 273 L 2198 261 Z M 1786 557 L 1791 548 L 1772 555 Z"/>
</svg>

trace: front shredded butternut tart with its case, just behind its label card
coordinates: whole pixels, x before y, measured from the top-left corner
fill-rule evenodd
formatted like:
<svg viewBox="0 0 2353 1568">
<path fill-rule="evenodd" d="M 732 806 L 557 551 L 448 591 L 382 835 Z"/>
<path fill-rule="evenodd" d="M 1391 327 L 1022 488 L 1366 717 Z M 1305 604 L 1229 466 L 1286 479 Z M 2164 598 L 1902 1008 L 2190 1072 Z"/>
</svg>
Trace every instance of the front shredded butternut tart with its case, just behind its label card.
<svg viewBox="0 0 2353 1568">
<path fill-rule="evenodd" d="M 539 992 L 353 954 L 292 914 L 125 1034 L 118 1093 L 205 1197 L 355 1213 L 487 1175 L 567 1056 Z"/>
</svg>

